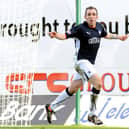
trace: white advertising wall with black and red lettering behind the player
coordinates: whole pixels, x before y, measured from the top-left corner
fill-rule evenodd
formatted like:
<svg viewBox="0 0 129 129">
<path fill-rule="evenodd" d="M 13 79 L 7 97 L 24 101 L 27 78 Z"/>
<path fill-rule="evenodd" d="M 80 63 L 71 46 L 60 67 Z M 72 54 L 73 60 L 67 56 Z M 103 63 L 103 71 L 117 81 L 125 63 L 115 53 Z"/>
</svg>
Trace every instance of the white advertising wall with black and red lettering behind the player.
<svg viewBox="0 0 129 129">
<path fill-rule="evenodd" d="M 64 85 L 68 86 L 68 81 L 74 71 L 74 41 L 72 39 L 67 41 L 50 39 L 47 33 L 49 31 L 66 32 L 71 28 L 75 23 L 75 1 L 39 0 L 37 2 L 34 0 L 24 2 L 21 0 L 20 2 L 24 4 L 13 2 L 6 4 L 6 1 L 3 1 L 0 5 L 8 9 L 5 11 L 1 7 L 0 11 L 0 91 L 7 92 L 7 77 L 17 72 L 21 75 L 36 71 L 36 74 L 44 73 L 46 76 L 52 73 L 66 72 L 69 78 L 64 82 Z M 105 23 L 109 32 L 127 34 L 129 32 L 128 2 L 128 0 L 125 0 L 124 3 L 122 0 L 82 0 L 82 19 L 85 8 L 93 5 L 98 8 L 99 21 Z M 116 3 L 117 6 L 114 8 L 112 5 Z M 30 8 L 30 5 L 35 6 Z M 104 85 L 107 85 L 103 88 L 102 93 L 104 94 L 127 95 L 129 90 L 129 61 L 126 58 L 129 50 L 128 42 L 129 40 L 122 42 L 102 39 L 96 67 L 103 78 Z M 36 44 L 32 45 L 34 43 Z M 21 59 L 22 52 L 26 56 Z M 18 84 L 20 81 L 17 80 Z M 49 89 L 40 87 L 44 83 L 44 87 L 47 87 L 46 81 L 48 80 L 43 79 L 42 81 L 37 79 L 33 89 L 34 93 L 39 94 L 38 91 L 43 91 L 40 93 L 51 94 Z M 41 90 L 37 90 L 36 87 Z"/>
</svg>

